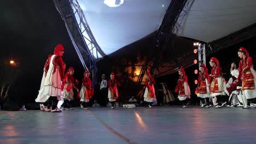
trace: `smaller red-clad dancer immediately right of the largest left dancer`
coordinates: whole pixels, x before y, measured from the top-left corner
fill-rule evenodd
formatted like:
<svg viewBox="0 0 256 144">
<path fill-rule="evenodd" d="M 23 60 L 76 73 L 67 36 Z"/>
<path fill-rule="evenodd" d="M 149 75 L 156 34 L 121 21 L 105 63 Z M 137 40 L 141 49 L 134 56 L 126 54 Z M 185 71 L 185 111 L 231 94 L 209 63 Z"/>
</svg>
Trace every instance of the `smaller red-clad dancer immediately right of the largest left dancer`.
<svg viewBox="0 0 256 144">
<path fill-rule="evenodd" d="M 79 90 L 77 88 L 79 81 L 74 79 L 73 74 L 74 74 L 74 69 L 72 67 L 69 67 L 65 75 L 65 79 L 63 80 L 63 83 L 62 83 L 63 85 L 62 98 L 64 99 L 64 103 L 61 105 L 62 110 L 73 110 L 71 108 L 71 101 L 74 99 L 73 88 L 77 89 L 79 93 Z"/>
</svg>

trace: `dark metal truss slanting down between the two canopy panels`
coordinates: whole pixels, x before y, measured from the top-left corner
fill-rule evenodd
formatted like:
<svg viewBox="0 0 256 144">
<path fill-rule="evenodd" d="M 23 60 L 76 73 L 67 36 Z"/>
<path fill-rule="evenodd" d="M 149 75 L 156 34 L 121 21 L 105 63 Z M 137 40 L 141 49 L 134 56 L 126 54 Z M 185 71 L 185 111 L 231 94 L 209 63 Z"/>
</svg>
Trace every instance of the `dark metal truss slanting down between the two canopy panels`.
<svg viewBox="0 0 256 144">
<path fill-rule="evenodd" d="M 185 7 L 187 1 L 188 0 L 172 0 L 170 5 L 168 6 L 164 19 L 162 20 L 162 23 L 154 36 L 154 45 L 156 49 L 158 49 L 158 51 L 156 53 L 153 52 L 152 56 L 149 56 L 147 61 L 143 64 L 146 66 L 142 67 L 141 72 L 139 74 L 137 80 L 136 93 L 138 93 L 142 87 L 141 83 L 144 74 L 148 70 L 150 73 L 153 73 L 153 71 L 158 70 L 158 65 L 159 62 L 161 61 L 162 52 L 164 52 L 168 41 L 173 35 L 173 28 L 176 25 L 178 17 L 181 14 L 183 8 Z"/>
</svg>

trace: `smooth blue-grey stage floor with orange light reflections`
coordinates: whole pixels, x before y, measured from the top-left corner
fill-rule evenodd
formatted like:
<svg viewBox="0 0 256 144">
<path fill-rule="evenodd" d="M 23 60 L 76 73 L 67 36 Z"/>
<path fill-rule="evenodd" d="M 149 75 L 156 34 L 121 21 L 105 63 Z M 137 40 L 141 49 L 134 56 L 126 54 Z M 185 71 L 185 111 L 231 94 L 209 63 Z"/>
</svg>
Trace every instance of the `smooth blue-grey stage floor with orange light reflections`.
<svg viewBox="0 0 256 144">
<path fill-rule="evenodd" d="M 0 111 L 0 143 L 255 143 L 256 109 Z"/>
</svg>

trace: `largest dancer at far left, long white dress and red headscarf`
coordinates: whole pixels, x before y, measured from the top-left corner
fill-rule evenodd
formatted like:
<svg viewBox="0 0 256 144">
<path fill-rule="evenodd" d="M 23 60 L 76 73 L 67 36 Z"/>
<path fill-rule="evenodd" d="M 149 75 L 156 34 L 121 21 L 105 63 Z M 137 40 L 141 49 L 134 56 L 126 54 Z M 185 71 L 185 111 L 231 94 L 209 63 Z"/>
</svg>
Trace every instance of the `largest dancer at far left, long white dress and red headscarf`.
<svg viewBox="0 0 256 144">
<path fill-rule="evenodd" d="M 40 104 L 41 110 L 51 112 L 61 112 L 57 109 L 58 99 L 61 99 L 61 81 L 64 78 L 62 56 L 64 47 L 58 44 L 54 49 L 54 55 L 49 55 L 45 63 L 44 75 L 41 88 L 36 102 Z"/>
</svg>

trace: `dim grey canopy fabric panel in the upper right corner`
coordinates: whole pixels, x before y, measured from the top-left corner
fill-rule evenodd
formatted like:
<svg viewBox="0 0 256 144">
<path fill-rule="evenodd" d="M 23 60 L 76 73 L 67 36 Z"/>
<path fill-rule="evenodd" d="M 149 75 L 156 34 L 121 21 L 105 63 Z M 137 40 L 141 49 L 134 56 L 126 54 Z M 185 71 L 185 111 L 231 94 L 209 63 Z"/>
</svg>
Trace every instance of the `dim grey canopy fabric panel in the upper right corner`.
<svg viewBox="0 0 256 144">
<path fill-rule="evenodd" d="M 209 43 L 255 22 L 255 0 L 195 0 L 177 35 Z"/>
</svg>

